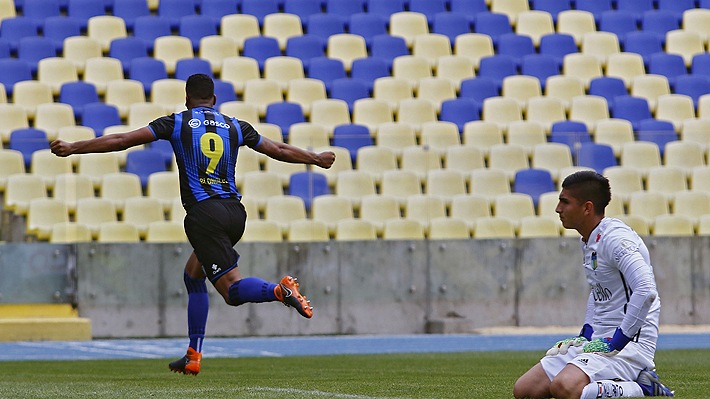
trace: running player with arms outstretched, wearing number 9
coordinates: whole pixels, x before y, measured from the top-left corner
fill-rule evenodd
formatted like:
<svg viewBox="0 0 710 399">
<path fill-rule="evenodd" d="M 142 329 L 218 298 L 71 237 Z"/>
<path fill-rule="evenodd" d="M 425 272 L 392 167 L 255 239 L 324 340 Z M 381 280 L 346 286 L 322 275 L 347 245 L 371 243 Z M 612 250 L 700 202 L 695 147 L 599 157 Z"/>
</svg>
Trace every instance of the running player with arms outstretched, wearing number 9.
<svg viewBox="0 0 710 399">
<path fill-rule="evenodd" d="M 244 233 L 246 212 L 237 191 L 234 173 L 237 152 L 246 145 L 285 162 L 330 168 L 335 154 L 304 151 L 259 135 L 247 122 L 214 109 L 214 82 L 203 74 L 192 75 L 185 84 L 186 111 L 152 121 L 129 133 L 67 143 L 57 140 L 50 148 L 58 156 L 124 150 L 140 144 L 169 140 L 180 175 L 180 197 L 187 211 L 185 232 L 193 248 L 183 275 L 188 292 L 187 354 L 170 363 L 170 369 L 184 374 L 200 372 L 202 341 L 209 310 L 209 278 L 225 302 L 239 306 L 247 302 L 281 301 L 311 318 L 313 308 L 298 290 L 295 278 L 285 276 L 279 284 L 257 277 L 242 278 L 237 268 L 239 254 L 234 245 Z"/>
</svg>

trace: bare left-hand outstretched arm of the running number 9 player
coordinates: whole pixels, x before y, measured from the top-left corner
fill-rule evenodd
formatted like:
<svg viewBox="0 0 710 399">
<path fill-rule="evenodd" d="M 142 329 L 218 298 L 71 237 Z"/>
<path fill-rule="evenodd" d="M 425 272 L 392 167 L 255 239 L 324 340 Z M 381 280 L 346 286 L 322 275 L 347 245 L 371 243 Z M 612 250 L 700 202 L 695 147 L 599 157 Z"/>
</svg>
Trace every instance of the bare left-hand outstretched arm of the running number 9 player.
<svg viewBox="0 0 710 399">
<path fill-rule="evenodd" d="M 155 135 L 148 127 L 142 127 L 128 133 L 109 134 L 91 140 L 67 143 L 55 140 L 49 144 L 52 152 L 60 157 L 72 154 L 86 154 L 91 152 L 111 152 L 125 150 L 139 144 L 155 141 Z"/>
</svg>

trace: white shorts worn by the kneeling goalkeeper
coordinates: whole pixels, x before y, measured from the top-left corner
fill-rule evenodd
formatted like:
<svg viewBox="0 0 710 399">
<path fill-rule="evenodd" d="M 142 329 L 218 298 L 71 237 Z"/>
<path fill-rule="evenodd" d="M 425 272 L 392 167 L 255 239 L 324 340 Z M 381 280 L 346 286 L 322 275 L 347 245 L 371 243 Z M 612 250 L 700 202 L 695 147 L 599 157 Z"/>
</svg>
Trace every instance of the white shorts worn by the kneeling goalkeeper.
<svg viewBox="0 0 710 399">
<path fill-rule="evenodd" d="M 600 380 L 636 381 L 643 369 L 653 369 L 653 351 L 630 342 L 616 356 L 583 353 L 582 348 L 570 347 L 565 355 L 545 356 L 540 360 L 547 377 L 552 381 L 568 364 L 582 370 L 590 382 Z"/>
</svg>

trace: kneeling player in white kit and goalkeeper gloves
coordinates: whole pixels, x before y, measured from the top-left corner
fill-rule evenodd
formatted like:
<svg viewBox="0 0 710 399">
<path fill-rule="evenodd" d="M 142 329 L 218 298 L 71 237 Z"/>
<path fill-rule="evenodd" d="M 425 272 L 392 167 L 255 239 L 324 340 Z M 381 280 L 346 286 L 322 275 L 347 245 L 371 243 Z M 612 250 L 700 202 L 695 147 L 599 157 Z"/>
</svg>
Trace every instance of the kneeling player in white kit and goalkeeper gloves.
<svg viewBox="0 0 710 399">
<path fill-rule="evenodd" d="M 609 181 L 596 172 L 562 183 L 556 212 L 582 235 L 591 288 L 584 326 L 518 379 L 517 399 L 673 396 L 652 371 L 661 301 L 648 249 L 629 226 L 604 217 L 610 199 Z"/>
</svg>

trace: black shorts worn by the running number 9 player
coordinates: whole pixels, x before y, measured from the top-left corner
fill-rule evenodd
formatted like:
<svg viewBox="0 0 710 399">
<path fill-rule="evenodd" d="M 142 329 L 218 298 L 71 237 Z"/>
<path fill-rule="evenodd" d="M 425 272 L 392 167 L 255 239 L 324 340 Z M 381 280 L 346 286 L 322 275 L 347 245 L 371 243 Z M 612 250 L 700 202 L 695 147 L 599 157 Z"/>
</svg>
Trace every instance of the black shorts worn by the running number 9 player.
<svg viewBox="0 0 710 399">
<path fill-rule="evenodd" d="M 200 201 L 187 211 L 185 233 L 212 283 L 237 267 L 234 244 L 244 234 L 246 218 L 244 205 L 235 198 Z"/>
</svg>

